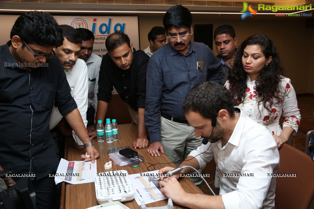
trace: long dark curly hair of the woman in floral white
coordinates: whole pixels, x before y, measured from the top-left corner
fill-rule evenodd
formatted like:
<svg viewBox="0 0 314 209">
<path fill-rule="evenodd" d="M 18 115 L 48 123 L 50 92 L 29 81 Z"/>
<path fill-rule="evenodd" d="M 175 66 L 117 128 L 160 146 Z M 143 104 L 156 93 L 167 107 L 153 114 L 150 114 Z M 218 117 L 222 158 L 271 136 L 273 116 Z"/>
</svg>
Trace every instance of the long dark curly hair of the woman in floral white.
<svg viewBox="0 0 314 209">
<path fill-rule="evenodd" d="M 233 98 L 234 105 L 239 105 L 243 102 L 246 94 L 247 73 L 243 69 L 242 56 L 247 45 L 259 45 L 266 59 L 272 56 L 271 62 L 264 67 L 261 73 L 256 78 L 256 92 L 260 102 L 263 102 L 265 107 L 270 112 L 270 107 L 273 104 L 280 104 L 282 96 L 280 96 L 279 81 L 281 79 L 282 66 L 278 57 L 276 47 L 271 39 L 263 34 L 250 36 L 243 41 L 238 49 L 231 73 L 228 77 L 230 82 L 230 94 Z"/>
</svg>

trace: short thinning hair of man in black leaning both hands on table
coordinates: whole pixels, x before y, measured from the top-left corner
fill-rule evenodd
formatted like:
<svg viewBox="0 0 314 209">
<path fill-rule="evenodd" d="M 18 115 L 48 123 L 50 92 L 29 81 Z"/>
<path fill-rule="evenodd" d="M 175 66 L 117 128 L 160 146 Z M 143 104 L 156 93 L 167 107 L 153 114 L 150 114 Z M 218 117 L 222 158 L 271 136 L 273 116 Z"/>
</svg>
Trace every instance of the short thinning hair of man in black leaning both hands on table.
<svg viewBox="0 0 314 209">
<path fill-rule="evenodd" d="M 105 44 L 106 44 L 106 49 L 109 52 L 122 46 L 123 44 L 127 44 L 131 48 L 130 38 L 127 36 L 127 34 L 119 30 L 108 35 Z"/>
</svg>

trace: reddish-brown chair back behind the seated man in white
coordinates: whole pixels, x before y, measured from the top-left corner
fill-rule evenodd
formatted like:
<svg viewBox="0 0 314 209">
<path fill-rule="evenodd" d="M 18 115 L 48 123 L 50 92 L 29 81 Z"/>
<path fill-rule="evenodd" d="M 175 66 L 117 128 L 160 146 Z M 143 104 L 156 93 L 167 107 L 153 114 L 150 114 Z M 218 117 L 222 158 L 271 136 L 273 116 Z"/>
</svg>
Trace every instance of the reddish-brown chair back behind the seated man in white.
<svg viewBox="0 0 314 209">
<path fill-rule="evenodd" d="M 308 209 L 314 197 L 314 161 L 288 144 L 283 144 L 279 155 L 277 174 L 296 174 L 296 177 L 277 177 L 276 209 Z"/>
</svg>

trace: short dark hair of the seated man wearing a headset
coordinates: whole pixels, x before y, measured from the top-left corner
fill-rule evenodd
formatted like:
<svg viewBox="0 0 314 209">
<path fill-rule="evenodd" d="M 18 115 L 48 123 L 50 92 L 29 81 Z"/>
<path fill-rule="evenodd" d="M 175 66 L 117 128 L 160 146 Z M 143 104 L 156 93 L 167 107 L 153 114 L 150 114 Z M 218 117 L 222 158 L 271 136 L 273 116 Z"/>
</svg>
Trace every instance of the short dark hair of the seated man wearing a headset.
<svg viewBox="0 0 314 209">
<path fill-rule="evenodd" d="M 203 118 L 213 119 L 219 110 L 228 111 L 231 118 L 235 117 L 232 98 L 226 87 L 212 81 L 195 85 L 185 97 L 182 112 L 199 112 Z"/>
</svg>

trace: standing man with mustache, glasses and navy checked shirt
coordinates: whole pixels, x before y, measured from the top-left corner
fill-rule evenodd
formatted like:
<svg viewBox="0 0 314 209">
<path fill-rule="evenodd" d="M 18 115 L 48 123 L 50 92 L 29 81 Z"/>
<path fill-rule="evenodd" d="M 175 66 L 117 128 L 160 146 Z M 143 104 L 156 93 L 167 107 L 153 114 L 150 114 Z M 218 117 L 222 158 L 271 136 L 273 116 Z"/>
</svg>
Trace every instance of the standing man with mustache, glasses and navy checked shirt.
<svg viewBox="0 0 314 209">
<path fill-rule="evenodd" d="M 163 18 L 169 44 L 149 59 L 145 102 L 145 125 L 150 135 L 147 152 L 165 153 L 176 165 L 196 149 L 201 137 L 182 113 L 185 95 L 199 82 L 219 82 L 221 63 L 205 44 L 191 41 L 192 14 L 181 6 L 171 7 Z M 201 186 L 200 178 L 192 178 Z"/>
</svg>

